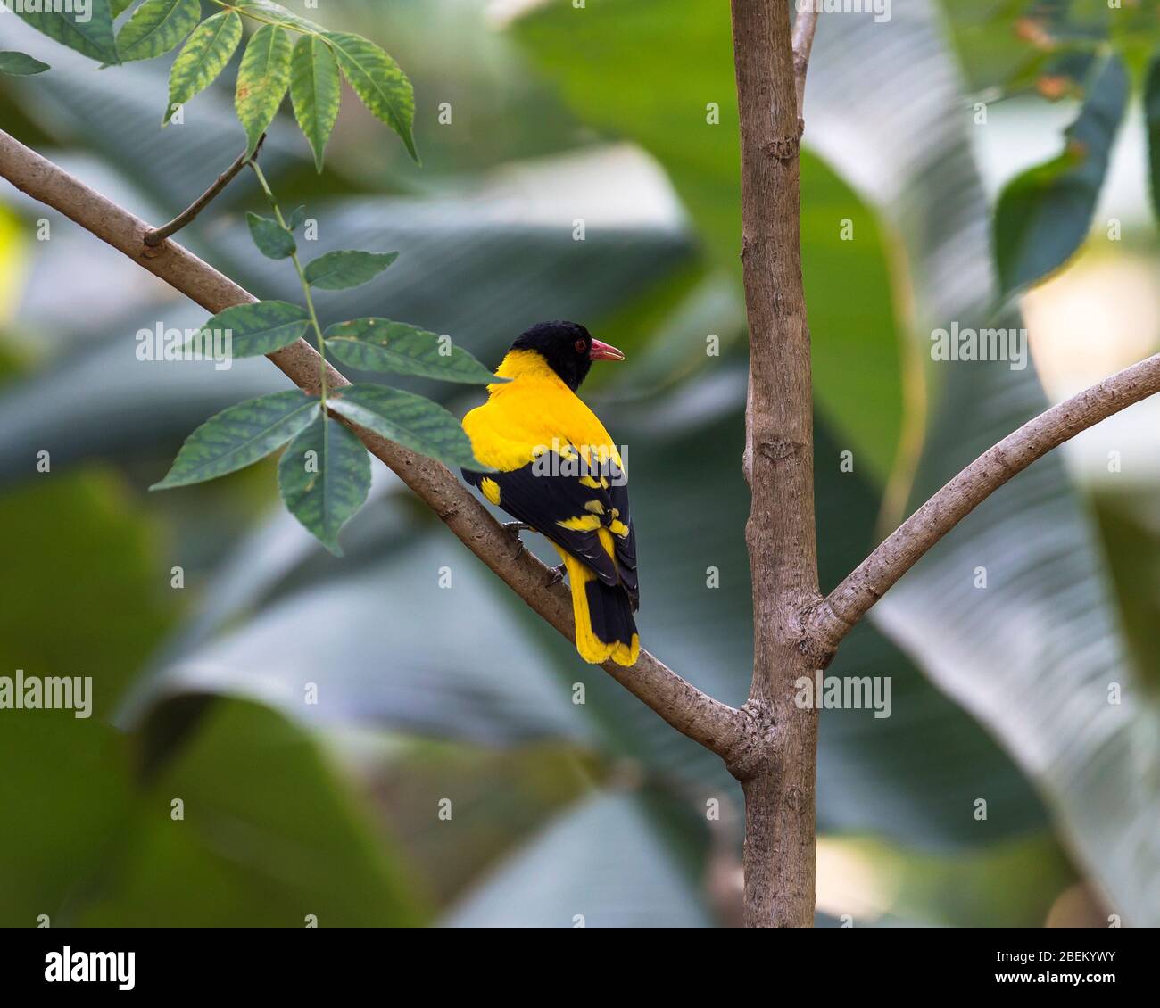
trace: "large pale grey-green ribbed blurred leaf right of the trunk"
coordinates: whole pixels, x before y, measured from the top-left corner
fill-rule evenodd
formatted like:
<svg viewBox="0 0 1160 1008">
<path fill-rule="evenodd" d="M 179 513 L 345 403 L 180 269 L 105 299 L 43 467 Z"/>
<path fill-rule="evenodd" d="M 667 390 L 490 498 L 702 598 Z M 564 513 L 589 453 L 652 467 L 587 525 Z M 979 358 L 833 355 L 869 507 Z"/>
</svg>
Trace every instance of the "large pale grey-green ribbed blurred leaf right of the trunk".
<svg viewBox="0 0 1160 1008">
<path fill-rule="evenodd" d="M 818 94 L 807 119 L 835 164 L 879 194 L 911 262 L 926 264 L 911 269 L 919 331 L 951 320 L 991 324 L 996 284 L 988 208 L 967 121 L 955 115 L 962 84 L 947 59 L 937 10 L 915 3 L 896 17 L 891 55 L 868 19 L 835 17 L 827 27 L 811 74 L 832 81 L 843 99 L 826 101 L 828 89 Z M 882 82 L 873 93 L 855 88 L 867 73 Z M 911 100 L 916 89 L 921 102 Z M 853 155 L 865 144 L 851 136 L 878 107 L 900 110 L 873 123 L 889 166 L 885 158 Z M 869 131 L 863 136 L 868 140 Z M 931 171 L 934 164 L 941 169 Z M 994 324 L 1022 326 L 1014 314 Z M 1046 406 L 1034 367 L 955 363 L 938 370 L 942 396 L 912 507 Z M 986 588 L 976 587 L 980 567 Z M 989 498 L 872 617 L 1031 776 L 1115 912 L 1138 924 L 1160 920 L 1160 710 L 1132 668 L 1090 510 L 1060 454 Z M 1123 688 L 1119 704 L 1109 702 L 1111 682 Z"/>
</svg>

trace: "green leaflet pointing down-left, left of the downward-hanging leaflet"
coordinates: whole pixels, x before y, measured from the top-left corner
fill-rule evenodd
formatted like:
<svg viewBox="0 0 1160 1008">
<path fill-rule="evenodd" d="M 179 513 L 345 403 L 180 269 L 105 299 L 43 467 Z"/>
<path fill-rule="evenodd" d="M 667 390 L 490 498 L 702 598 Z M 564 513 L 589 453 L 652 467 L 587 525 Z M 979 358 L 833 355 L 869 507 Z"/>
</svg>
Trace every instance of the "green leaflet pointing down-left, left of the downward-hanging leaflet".
<svg viewBox="0 0 1160 1008">
<path fill-rule="evenodd" d="M 280 449 L 317 412 L 318 400 L 298 389 L 223 409 L 186 438 L 169 473 L 150 490 L 189 486 L 245 469 Z"/>
</svg>

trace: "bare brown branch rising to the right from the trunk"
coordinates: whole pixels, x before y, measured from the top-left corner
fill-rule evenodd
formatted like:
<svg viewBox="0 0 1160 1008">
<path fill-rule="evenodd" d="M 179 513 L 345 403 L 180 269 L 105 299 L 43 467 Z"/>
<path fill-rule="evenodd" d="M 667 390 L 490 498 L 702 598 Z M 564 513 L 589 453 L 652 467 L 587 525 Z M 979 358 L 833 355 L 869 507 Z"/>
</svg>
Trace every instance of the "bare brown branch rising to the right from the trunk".
<svg viewBox="0 0 1160 1008">
<path fill-rule="evenodd" d="M 1082 430 L 1160 392 L 1160 354 L 1029 420 L 920 507 L 829 595 L 807 607 L 799 647 L 820 663 L 883 594 L 1007 480 Z"/>
</svg>

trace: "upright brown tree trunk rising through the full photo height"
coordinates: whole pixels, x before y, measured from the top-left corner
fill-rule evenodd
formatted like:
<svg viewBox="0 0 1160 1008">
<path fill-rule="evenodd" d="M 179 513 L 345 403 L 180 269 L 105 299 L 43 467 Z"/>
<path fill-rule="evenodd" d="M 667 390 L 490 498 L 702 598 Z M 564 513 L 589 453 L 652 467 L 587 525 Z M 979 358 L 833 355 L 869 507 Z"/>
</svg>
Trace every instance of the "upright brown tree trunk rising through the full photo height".
<svg viewBox="0 0 1160 1008">
<path fill-rule="evenodd" d="M 785 0 L 732 0 L 741 123 L 741 262 L 749 324 L 746 525 L 754 669 L 746 711 L 763 745 L 733 768 L 746 799 L 745 920 L 809 927 L 814 905 L 817 711 L 798 614 L 818 599 L 810 332 L 802 287 L 798 115 Z"/>
</svg>

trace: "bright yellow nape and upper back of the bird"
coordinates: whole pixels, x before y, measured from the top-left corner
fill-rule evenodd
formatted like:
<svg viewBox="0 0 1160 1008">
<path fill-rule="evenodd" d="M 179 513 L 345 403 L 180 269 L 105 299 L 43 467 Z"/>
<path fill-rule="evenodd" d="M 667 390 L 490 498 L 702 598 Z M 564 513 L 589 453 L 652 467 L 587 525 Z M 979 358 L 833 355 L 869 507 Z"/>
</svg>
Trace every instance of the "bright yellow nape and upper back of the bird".
<svg viewBox="0 0 1160 1008">
<path fill-rule="evenodd" d="M 512 350 L 495 369 L 509 382 L 487 386 L 488 398 L 463 418 L 476 458 L 509 472 L 553 445 L 606 451 L 618 466 L 619 452 L 592 409 L 534 350 Z"/>
</svg>

